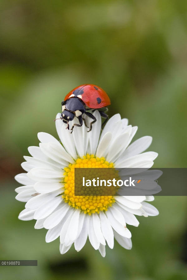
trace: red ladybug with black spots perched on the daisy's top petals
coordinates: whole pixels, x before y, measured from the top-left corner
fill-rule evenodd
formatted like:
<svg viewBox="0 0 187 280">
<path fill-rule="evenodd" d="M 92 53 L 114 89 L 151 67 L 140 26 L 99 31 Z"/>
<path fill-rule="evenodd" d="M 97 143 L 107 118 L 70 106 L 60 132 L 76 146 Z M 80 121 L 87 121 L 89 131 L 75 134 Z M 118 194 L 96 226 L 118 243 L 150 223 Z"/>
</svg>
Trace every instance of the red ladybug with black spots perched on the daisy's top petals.
<svg viewBox="0 0 187 280">
<path fill-rule="evenodd" d="M 64 123 L 67 124 L 67 129 L 69 130 L 69 121 L 73 121 L 74 117 L 77 117 L 79 120 L 79 124 L 74 124 L 71 128 L 71 133 L 73 132 L 74 126 L 82 126 L 84 118 L 83 114 L 89 116 L 93 121 L 90 124 L 89 131 L 92 130 L 92 125 L 97 119 L 93 116 L 92 113 L 96 109 L 100 115 L 106 120 L 103 124 L 108 120 L 108 115 L 105 113 L 108 111 L 108 108 L 105 106 L 110 105 L 110 98 L 107 93 L 98 86 L 91 84 L 84 84 L 77 88 L 74 88 L 70 93 L 68 93 L 62 101 L 62 113 L 60 119 L 63 120 Z M 84 120 L 85 123 L 85 120 Z M 85 126 L 88 127 L 85 123 Z M 88 132 L 89 132 L 88 131 Z"/>
</svg>

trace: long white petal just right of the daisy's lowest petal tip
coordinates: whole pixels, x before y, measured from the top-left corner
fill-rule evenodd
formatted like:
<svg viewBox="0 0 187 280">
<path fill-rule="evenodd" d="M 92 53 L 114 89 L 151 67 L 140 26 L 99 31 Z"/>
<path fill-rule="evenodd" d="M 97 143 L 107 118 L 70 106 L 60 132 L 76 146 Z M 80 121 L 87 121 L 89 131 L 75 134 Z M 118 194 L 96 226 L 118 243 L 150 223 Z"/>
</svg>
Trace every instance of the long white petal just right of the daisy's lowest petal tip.
<svg viewBox="0 0 187 280">
<path fill-rule="evenodd" d="M 111 249 L 113 249 L 114 234 L 113 234 L 112 227 L 108 221 L 108 218 L 102 211 L 99 212 L 99 217 L 100 217 L 100 221 L 101 221 L 101 230 L 102 230 L 103 236 L 107 240 L 108 246 Z"/>
</svg>

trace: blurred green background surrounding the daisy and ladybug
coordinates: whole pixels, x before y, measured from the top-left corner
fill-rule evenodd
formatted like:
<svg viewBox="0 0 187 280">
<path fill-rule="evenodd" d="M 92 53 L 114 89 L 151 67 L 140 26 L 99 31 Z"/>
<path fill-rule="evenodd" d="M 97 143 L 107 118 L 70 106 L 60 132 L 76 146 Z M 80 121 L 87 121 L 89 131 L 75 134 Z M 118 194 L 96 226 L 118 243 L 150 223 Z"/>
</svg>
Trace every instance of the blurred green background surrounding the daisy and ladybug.
<svg viewBox="0 0 187 280">
<path fill-rule="evenodd" d="M 0 259 L 37 259 L 37 267 L 0 267 L 0 279 L 187 279 L 186 197 L 156 197 L 156 217 L 138 217 L 132 250 L 115 243 L 102 258 L 89 242 L 60 255 L 59 239 L 20 221 L 13 178 L 37 132 L 55 137 L 53 120 L 74 87 L 93 83 L 153 136 L 154 167 L 187 167 L 187 2 L 185 0 L 0 1 Z"/>
</svg>

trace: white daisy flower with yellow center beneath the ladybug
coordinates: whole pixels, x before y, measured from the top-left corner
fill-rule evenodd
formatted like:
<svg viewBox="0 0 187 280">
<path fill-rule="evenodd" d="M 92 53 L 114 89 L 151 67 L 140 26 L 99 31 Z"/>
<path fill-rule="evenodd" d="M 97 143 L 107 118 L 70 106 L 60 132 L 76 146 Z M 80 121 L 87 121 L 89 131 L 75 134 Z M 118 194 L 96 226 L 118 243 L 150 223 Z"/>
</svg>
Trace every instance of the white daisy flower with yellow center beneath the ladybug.
<svg viewBox="0 0 187 280">
<path fill-rule="evenodd" d="M 138 226 L 137 216 L 156 216 L 157 209 L 146 201 L 150 196 L 75 196 L 74 168 L 151 168 L 155 152 L 143 153 L 152 137 L 144 136 L 132 144 L 137 126 L 114 115 L 101 132 L 101 117 L 87 132 L 85 124 L 74 127 L 72 134 L 61 120 L 56 120 L 60 141 L 44 132 L 38 133 L 39 147 L 28 148 L 22 168 L 27 173 L 15 176 L 23 186 L 16 188 L 16 199 L 26 202 L 19 219 L 35 219 L 36 229 L 48 229 L 46 242 L 60 236 L 60 253 L 72 244 L 80 251 L 87 238 L 94 249 L 105 256 L 106 243 L 112 249 L 114 238 L 125 249 L 132 248 L 127 225 Z M 60 113 L 56 118 L 60 117 Z M 89 118 L 85 116 L 87 124 Z M 75 120 L 74 120 L 75 121 Z M 72 124 L 70 123 L 70 126 Z M 130 144 L 130 145 L 129 145 Z"/>
</svg>

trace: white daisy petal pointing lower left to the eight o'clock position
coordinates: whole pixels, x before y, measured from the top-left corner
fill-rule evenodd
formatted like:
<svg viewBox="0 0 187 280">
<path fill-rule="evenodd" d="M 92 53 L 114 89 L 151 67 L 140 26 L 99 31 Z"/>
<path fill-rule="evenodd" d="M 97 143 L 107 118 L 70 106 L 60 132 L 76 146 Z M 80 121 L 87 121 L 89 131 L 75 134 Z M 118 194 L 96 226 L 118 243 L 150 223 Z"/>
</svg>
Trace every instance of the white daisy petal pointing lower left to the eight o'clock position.
<svg viewBox="0 0 187 280">
<path fill-rule="evenodd" d="M 52 197 L 49 201 L 44 202 L 34 214 L 34 219 L 43 219 L 50 215 L 56 207 L 62 202 L 62 197 Z"/>
</svg>

